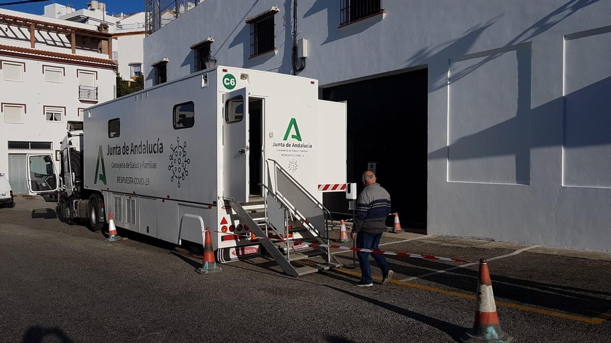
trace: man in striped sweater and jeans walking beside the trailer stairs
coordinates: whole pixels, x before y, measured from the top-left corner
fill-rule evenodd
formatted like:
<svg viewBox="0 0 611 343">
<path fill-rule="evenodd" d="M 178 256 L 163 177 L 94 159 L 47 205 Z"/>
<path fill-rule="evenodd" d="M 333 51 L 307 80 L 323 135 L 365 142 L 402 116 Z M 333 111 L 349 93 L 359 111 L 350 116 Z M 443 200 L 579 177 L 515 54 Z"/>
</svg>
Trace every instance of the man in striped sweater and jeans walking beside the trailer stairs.
<svg viewBox="0 0 611 343">
<path fill-rule="evenodd" d="M 352 239 L 356 238 L 357 248 L 378 250 L 378 244 L 386 228 L 386 217 L 390 213 L 390 195 L 386 192 L 386 189 L 376 183 L 376 176 L 371 171 L 365 171 L 363 174 L 363 184 L 365 189 L 360 193 L 359 200 L 357 200 L 356 218 L 354 219 L 351 236 Z M 373 286 L 369 254 L 360 251 L 357 253 L 361 276 L 356 286 Z M 382 269 L 382 284 L 387 283 L 394 272 L 390 270 L 384 255 L 372 255 Z"/>
</svg>

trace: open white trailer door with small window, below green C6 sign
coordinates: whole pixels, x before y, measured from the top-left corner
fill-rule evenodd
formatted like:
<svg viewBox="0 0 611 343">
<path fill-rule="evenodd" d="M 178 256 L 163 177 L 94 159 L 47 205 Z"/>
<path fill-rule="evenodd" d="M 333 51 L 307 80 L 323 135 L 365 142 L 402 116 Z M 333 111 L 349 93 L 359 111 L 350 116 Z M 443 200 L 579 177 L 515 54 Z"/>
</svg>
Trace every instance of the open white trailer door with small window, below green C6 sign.
<svg viewBox="0 0 611 343">
<path fill-rule="evenodd" d="M 247 88 L 225 93 L 223 101 L 223 197 L 246 203 L 250 190 Z"/>
</svg>

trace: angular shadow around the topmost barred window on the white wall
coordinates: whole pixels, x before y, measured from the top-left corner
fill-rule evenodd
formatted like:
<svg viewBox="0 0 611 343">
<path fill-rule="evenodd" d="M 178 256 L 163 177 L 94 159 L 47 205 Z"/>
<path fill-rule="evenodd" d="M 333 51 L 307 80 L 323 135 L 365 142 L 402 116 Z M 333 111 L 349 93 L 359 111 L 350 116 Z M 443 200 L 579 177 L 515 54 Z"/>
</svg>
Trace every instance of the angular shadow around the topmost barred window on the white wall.
<svg viewBox="0 0 611 343">
<path fill-rule="evenodd" d="M 360 21 L 358 24 L 349 24 L 345 27 L 340 26 L 340 1 L 316 0 L 312 7 L 304 13 L 304 18 L 315 15 L 316 13 L 327 12 L 327 38 L 321 45 L 349 37 L 351 35 L 360 34 L 369 27 L 379 23 L 382 16 L 368 18 Z"/>
</svg>

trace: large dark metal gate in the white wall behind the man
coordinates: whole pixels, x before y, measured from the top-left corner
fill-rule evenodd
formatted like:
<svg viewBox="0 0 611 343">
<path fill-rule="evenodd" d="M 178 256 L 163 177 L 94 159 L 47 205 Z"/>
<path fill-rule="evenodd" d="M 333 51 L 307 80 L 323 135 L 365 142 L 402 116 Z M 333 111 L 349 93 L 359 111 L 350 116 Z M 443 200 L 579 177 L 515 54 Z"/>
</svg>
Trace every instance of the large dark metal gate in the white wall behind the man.
<svg viewBox="0 0 611 343">
<path fill-rule="evenodd" d="M 323 99 L 346 101 L 347 181 L 361 192 L 361 175 L 373 167 L 392 211 L 411 228 L 426 226 L 427 96 L 426 68 L 323 89 Z M 349 213 L 343 193 L 323 200 L 330 211 Z"/>
</svg>

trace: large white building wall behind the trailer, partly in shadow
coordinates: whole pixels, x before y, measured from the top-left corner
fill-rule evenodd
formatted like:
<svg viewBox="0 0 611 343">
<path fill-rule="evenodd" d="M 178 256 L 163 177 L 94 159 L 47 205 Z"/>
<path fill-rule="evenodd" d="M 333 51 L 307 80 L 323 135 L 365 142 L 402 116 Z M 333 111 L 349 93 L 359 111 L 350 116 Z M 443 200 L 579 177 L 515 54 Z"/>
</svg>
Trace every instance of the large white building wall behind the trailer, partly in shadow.
<svg viewBox="0 0 611 343">
<path fill-rule="evenodd" d="M 203 2 L 145 38 L 145 87 L 163 58 L 169 80 L 192 73 L 208 36 L 219 64 L 290 73 L 292 3 Z M 244 20 L 273 5 L 277 54 L 251 58 Z M 384 8 L 338 27 L 340 1 L 299 1 L 301 75 L 327 87 L 428 67 L 428 233 L 610 250 L 611 1 Z"/>
</svg>

